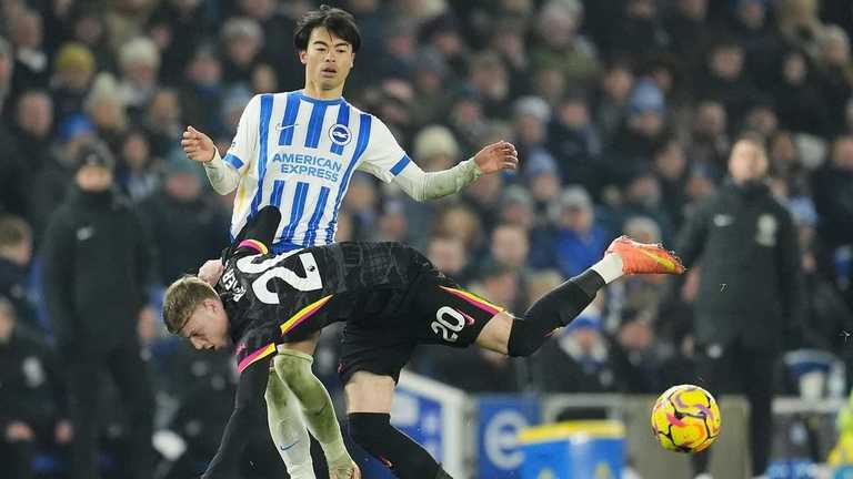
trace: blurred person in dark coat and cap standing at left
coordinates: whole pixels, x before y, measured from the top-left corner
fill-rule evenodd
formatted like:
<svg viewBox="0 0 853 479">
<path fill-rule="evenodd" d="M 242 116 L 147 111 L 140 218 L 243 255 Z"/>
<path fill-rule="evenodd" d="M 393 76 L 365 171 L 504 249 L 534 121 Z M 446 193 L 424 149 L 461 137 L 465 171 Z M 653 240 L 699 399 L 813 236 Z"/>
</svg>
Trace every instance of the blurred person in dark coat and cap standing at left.
<svg viewBox="0 0 853 479">
<path fill-rule="evenodd" d="M 76 188 L 51 217 L 42 247 L 42 287 L 69 378 L 73 477 L 98 478 L 101 370 L 129 417 L 128 477 L 150 478 L 153 395 L 137 333 L 153 263 L 142 226 L 112 190 L 114 160 L 101 143 L 82 147 Z"/>
</svg>

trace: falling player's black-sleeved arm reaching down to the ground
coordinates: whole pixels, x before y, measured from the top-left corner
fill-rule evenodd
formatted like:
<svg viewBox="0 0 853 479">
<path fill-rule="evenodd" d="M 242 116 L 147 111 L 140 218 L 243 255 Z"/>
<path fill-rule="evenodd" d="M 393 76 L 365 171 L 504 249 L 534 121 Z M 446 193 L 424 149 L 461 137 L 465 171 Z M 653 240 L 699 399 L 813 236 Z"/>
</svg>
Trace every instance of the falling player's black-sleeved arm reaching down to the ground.
<svg viewBox="0 0 853 479">
<path fill-rule="evenodd" d="M 237 466 L 245 446 L 249 428 L 252 427 L 252 418 L 263 410 L 271 358 L 272 356 L 267 356 L 259 359 L 240 374 L 234 410 L 228 419 L 219 450 L 202 479 L 231 479 L 237 475 Z"/>
</svg>

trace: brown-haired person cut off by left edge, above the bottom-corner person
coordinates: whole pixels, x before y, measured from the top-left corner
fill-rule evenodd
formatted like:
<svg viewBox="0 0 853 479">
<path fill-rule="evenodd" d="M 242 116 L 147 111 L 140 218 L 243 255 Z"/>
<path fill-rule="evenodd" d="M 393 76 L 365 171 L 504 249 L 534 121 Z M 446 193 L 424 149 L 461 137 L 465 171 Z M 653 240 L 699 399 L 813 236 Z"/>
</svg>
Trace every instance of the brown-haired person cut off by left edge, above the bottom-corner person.
<svg viewBox="0 0 853 479">
<path fill-rule="evenodd" d="M 18 320 L 39 332 L 36 304 L 29 285 L 32 231 L 20 217 L 0 215 L 0 297 L 10 302 Z"/>
</svg>

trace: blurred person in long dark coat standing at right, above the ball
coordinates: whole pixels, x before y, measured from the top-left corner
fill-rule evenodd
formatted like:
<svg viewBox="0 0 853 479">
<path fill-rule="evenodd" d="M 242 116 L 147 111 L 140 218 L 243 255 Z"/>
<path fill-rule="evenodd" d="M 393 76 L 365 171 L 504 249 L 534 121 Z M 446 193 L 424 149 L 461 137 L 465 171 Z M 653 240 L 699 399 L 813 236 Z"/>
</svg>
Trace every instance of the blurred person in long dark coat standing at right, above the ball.
<svg viewBox="0 0 853 479">
<path fill-rule="evenodd" d="M 700 385 L 750 401 L 752 472 L 764 473 L 772 431 L 773 370 L 802 327 L 800 248 L 791 214 L 765 183 L 767 156 L 752 136 L 734 144 L 731 180 L 699 206 L 676 251 L 699 267 L 695 344 Z M 708 453 L 694 456 L 698 472 Z"/>
</svg>

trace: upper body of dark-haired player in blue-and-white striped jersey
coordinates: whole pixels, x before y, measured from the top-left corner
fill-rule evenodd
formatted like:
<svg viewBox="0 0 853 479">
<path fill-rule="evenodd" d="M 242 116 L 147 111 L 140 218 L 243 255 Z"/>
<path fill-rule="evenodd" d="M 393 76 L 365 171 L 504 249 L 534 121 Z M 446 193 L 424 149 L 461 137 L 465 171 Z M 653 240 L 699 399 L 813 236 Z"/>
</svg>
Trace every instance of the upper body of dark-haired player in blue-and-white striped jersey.
<svg viewBox="0 0 853 479">
<path fill-rule="evenodd" d="M 381 120 L 342 96 L 361 44 L 348 12 L 323 6 L 307 13 L 293 41 L 305 65 L 304 89 L 252 98 L 224 157 L 191 126 L 181 141 L 188 156 L 204 164 L 217 192 L 237 190 L 232 240 L 261 207 L 273 205 L 283 216 L 274 253 L 332 243 L 338 208 L 357 170 L 424 201 L 456 193 L 482 174 L 516 167 L 518 153 L 508 142 L 441 172 L 424 173 L 413 163 Z"/>
</svg>

